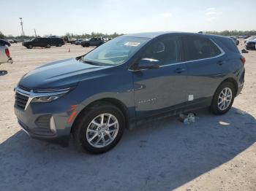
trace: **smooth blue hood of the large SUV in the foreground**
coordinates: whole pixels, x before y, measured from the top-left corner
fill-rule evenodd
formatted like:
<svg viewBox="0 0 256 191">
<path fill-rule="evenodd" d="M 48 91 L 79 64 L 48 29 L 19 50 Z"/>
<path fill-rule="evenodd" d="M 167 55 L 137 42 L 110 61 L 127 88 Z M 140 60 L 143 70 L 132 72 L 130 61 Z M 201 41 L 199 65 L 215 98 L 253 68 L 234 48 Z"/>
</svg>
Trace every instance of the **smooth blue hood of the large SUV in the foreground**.
<svg viewBox="0 0 256 191">
<path fill-rule="evenodd" d="M 19 85 L 33 90 L 62 88 L 78 84 L 86 78 L 99 77 L 105 74 L 95 74 L 94 71 L 109 68 L 109 66 L 94 66 L 82 63 L 75 58 L 48 63 L 40 66 L 20 79 Z"/>
</svg>

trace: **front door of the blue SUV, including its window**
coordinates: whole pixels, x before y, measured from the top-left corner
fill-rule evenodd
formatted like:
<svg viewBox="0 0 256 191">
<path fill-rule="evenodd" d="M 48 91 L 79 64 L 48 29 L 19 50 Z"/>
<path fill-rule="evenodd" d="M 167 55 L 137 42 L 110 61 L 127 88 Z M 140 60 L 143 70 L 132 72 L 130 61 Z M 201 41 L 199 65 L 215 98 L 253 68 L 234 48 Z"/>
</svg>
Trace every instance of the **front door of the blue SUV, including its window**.
<svg viewBox="0 0 256 191">
<path fill-rule="evenodd" d="M 187 101 L 187 68 L 181 62 L 178 36 L 169 36 L 148 44 L 140 59 L 160 61 L 159 69 L 133 71 L 135 107 L 139 117 L 176 111 Z"/>
</svg>

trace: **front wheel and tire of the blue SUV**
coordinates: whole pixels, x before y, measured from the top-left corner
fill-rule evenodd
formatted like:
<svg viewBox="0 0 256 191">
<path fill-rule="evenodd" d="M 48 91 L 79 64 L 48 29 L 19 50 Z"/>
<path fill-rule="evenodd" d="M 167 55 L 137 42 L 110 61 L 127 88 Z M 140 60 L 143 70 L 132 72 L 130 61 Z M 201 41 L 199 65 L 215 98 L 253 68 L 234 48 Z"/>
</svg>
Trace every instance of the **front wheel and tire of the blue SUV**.
<svg viewBox="0 0 256 191">
<path fill-rule="evenodd" d="M 99 154 L 118 144 L 124 125 L 120 109 L 108 103 L 99 103 L 81 114 L 72 133 L 78 147 Z"/>
</svg>

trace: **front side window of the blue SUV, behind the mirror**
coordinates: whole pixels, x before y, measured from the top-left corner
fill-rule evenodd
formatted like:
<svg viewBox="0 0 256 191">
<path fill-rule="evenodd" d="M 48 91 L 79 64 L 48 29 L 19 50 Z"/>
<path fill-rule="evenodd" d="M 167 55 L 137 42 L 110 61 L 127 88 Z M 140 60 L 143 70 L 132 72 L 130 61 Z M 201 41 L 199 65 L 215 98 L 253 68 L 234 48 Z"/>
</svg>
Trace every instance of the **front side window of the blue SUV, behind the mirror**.
<svg viewBox="0 0 256 191">
<path fill-rule="evenodd" d="M 143 52 L 141 59 L 151 58 L 158 60 L 161 66 L 178 63 L 181 61 L 181 51 L 178 38 L 168 37 L 165 39 L 157 39 L 151 43 L 146 51 Z"/>
</svg>

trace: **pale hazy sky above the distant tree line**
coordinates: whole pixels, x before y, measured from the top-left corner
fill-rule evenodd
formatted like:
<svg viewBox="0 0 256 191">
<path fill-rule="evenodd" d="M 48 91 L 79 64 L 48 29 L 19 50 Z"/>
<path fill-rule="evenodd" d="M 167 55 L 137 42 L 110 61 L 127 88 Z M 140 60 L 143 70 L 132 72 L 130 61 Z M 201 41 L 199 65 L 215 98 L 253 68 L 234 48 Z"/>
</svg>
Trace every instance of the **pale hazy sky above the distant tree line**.
<svg viewBox="0 0 256 191">
<path fill-rule="evenodd" d="M 256 0 L 1 0 L 0 31 L 64 35 L 256 30 Z M 6 7 L 4 9 L 4 7 Z"/>
</svg>

